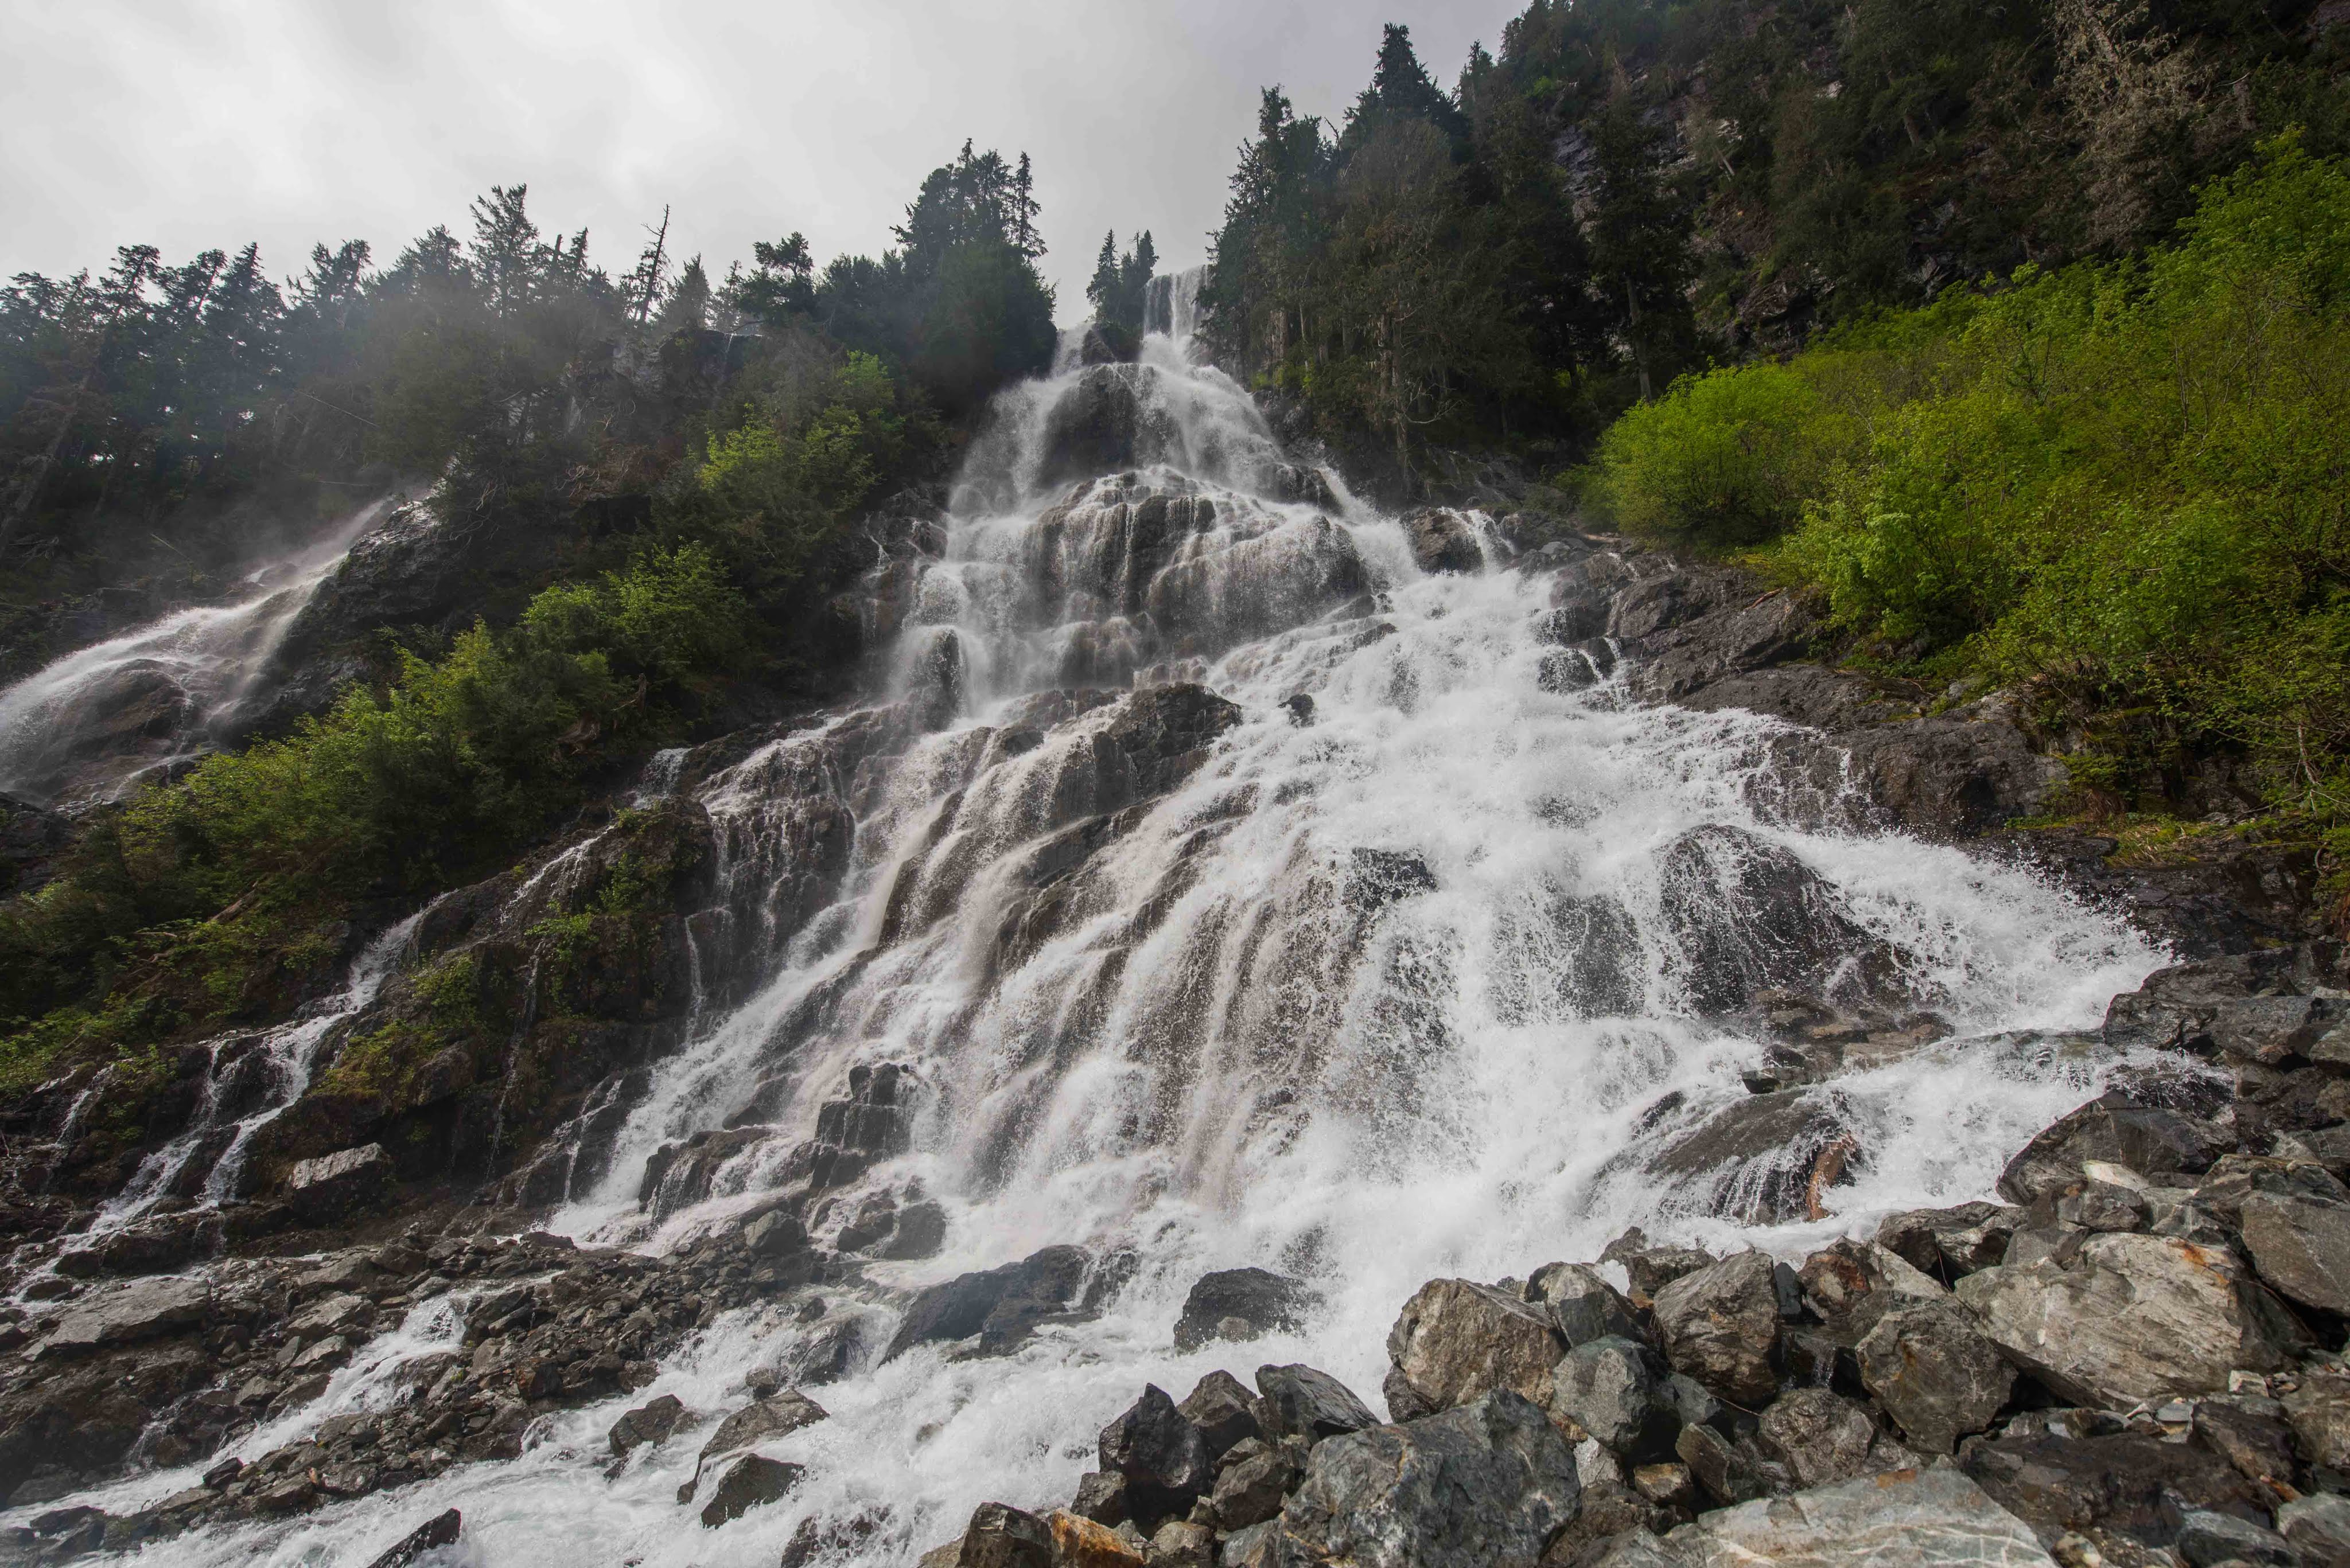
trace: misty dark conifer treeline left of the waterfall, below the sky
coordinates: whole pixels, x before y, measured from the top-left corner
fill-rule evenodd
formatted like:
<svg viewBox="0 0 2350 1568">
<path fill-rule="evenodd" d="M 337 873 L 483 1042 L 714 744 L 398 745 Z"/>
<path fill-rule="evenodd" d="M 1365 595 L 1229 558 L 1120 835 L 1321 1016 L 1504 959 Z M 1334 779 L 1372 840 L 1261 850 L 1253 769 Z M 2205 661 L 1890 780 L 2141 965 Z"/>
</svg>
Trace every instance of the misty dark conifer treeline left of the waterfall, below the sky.
<svg viewBox="0 0 2350 1568">
<path fill-rule="evenodd" d="M 0 597 L 226 559 L 263 517 L 341 510 L 390 475 L 524 510 L 670 475 L 707 515 L 679 461 L 738 430 L 766 440 L 736 442 L 721 489 L 759 517 L 721 531 L 773 569 L 773 536 L 822 531 L 907 461 L 907 430 L 1053 353 L 1025 155 L 966 143 L 895 249 L 825 268 L 790 235 L 712 277 L 670 252 L 663 214 L 613 275 L 585 230 L 540 230 L 526 186 L 491 188 L 470 230 L 435 228 L 388 268 L 364 240 L 320 244 L 287 284 L 251 244 L 183 263 L 127 244 L 103 273 L 0 289 Z M 719 395 L 705 331 L 759 336 L 721 353 Z M 886 440 L 865 440 L 874 397 Z M 830 407 L 867 428 L 844 442 L 834 421 L 811 454 Z"/>
</svg>

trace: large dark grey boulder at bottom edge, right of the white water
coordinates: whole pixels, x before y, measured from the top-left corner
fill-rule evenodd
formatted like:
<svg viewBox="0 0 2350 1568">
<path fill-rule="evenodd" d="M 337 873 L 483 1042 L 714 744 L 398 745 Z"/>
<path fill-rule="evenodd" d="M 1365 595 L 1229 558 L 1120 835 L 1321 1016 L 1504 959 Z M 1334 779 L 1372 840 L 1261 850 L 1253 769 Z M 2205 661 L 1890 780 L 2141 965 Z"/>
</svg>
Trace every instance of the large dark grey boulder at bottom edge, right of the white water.
<svg viewBox="0 0 2350 1568">
<path fill-rule="evenodd" d="M 1567 1439 L 1504 1387 L 1321 1443 L 1274 1530 L 1300 1568 L 1535 1568 L 1579 1502 Z"/>
</svg>

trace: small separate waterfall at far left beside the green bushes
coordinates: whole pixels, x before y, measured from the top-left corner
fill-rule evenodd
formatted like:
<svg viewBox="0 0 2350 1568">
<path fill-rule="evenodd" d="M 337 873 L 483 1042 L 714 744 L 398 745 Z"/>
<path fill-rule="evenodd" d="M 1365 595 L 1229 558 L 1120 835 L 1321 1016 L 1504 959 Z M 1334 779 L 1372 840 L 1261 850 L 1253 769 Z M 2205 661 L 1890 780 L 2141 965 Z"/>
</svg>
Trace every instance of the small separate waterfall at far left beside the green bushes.
<svg viewBox="0 0 2350 1568">
<path fill-rule="evenodd" d="M 247 576 L 251 597 L 181 609 L 0 691 L 0 792 L 115 799 L 233 733 L 294 618 L 397 496 Z"/>
</svg>

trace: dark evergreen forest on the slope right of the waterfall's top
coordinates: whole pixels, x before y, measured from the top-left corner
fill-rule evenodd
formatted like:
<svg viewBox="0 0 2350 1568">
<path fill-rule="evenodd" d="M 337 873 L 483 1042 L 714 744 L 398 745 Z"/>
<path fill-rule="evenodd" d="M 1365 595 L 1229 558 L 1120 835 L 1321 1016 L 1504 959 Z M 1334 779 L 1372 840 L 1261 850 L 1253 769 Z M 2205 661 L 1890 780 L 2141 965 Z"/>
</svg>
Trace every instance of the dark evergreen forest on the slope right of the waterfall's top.
<svg viewBox="0 0 2350 1568">
<path fill-rule="evenodd" d="M 2287 127 L 2350 146 L 2315 0 L 1535 0 L 1342 125 L 1264 92 L 1215 235 L 1222 362 L 1332 440 L 1579 442 L 1708 362 L 2122 254 Z"/>
</svg>

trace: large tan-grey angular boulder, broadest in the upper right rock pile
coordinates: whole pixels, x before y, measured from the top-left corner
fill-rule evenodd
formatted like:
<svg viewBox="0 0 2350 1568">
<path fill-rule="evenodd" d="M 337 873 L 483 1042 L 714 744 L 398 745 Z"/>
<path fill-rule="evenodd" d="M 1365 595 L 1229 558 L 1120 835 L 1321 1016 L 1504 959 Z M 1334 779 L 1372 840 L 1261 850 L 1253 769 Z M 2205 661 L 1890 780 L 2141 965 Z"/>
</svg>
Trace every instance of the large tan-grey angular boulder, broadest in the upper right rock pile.
<svg viewBox="0 0 2350 1568">
<path fill-rule="evenodd" d="M 2228 1253 L 2176 1237 L 2094 1234 L 2070 1262 L 2002 1265 L 1958 1281 L 1986 1338 L 2077 1403 L 2124 1410 L 2275 1371 L 2291 1324 Z"/>
</svg>

